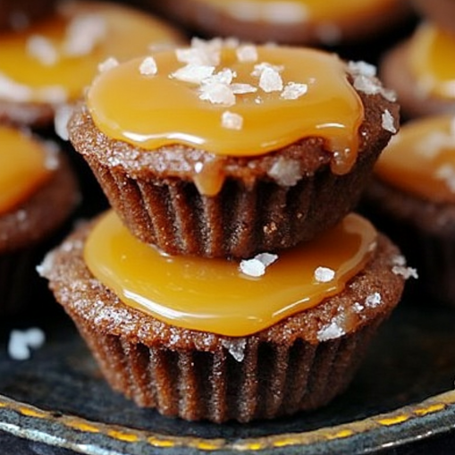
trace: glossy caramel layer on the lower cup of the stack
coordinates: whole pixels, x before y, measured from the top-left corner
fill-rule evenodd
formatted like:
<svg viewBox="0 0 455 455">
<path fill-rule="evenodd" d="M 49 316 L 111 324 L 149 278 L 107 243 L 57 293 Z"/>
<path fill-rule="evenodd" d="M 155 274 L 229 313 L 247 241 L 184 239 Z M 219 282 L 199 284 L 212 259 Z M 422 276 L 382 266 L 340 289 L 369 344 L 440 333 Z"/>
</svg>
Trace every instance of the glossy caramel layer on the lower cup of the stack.
<svg viewBox="0 0 455 455">
<path fill-rule="evenodd" d="M 279 257 L 262 255 L 265 273 L 251 276 L 251 261 L 165 255 L 137 240 L 110 211 L 90 232 L 84 258 L 125 305 L 167 324 L 244 336 L 342 291 L 366 265 L 375 242 L 375 228 L 348 215 L 316 240 Z"/>
</svg>

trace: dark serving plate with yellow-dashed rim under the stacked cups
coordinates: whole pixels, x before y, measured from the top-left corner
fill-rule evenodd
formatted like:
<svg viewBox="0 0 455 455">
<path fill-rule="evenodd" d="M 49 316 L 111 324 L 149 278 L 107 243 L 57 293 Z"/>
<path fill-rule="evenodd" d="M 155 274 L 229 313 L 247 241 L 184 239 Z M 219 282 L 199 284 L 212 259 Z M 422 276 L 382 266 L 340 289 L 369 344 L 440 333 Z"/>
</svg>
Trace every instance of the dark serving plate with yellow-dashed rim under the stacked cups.
<svg viewBox="0 0 455 455">
<path fill-rule="evenodd" d="M 329 406 L 222 426 L 161 417 L 112 392 L 72 322 L 50 309 L 2 324 L 0 432 L 92 455 L 275 455 L 366 454 L 455 428 L 455 308 L 422 296 L 404 299 Z M 29 360 L 9 358 L 10 331 L 32 325 L 46 344 Z"/>
</svg>

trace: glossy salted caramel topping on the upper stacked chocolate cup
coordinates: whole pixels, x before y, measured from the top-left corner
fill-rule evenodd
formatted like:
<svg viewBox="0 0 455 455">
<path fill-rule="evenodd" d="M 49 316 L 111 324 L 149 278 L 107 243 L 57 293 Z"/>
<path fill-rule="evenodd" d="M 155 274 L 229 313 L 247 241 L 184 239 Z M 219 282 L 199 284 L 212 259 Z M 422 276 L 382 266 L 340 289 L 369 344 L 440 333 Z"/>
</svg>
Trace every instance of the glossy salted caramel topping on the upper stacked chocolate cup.
<svg viewBox="0 0 455 455">
<path fill-rule="evenodd" d="M 323 138 L 334 173 L 356 161 L 364 119 L 336 55 L 216 39 L 102 72 L 87 103 L 106 136 L 146 150 L 178 143 L 217 156 L 259 156 Z"/>
</svg>

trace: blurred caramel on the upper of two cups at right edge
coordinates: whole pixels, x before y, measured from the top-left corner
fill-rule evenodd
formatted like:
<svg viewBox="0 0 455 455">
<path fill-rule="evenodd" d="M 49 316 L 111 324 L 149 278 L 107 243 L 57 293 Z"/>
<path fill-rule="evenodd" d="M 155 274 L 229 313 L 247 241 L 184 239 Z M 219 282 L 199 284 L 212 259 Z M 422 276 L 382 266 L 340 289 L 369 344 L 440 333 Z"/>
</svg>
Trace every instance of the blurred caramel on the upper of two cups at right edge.
<svg viewBox="0 0 455 455">
<path fill-rule="evenodd" d="M 455 98 L 455 37 L 422 24 L 409 45 L 409 69 L 423 95 Z"/>
</svg>

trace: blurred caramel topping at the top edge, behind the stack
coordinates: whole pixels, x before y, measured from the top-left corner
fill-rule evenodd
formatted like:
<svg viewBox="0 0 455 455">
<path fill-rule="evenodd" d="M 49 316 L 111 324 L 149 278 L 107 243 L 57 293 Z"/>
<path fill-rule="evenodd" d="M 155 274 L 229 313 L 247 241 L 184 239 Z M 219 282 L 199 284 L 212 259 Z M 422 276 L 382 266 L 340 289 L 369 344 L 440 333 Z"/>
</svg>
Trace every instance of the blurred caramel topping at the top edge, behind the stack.
<svg viewBox="0 0 455 455">
<path fill-rule="evenodd" d="M 301 21 L 337 21 L 352 19 L 371 11 L 392 7 L 397 0 L 200 0 L 239 17 L 242 21 L 293 23 Z"/>
</svg>

